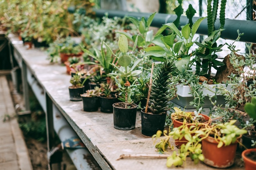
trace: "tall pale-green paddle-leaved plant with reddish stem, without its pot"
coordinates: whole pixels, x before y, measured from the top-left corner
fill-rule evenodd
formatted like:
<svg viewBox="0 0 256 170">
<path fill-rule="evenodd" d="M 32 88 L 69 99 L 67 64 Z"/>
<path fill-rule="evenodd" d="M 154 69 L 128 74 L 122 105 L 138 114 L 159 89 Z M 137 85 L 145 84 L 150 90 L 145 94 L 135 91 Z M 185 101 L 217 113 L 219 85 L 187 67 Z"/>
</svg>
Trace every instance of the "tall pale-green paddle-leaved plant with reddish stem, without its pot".
<svg viewBox="0 0 256 170">
<path fill-rule="evenodd" d="M 125 108 L 128 106 L 128 87 L 130 86 L 130 82 L 128 81 L 128 77 L 130 76 L 137 76 L 141 73 L 141 70 L 134 70 L 137 64 L 139 64 L 140 60 L 136 60 L 134 64 L 130 67 L 130 64 L 132 64 L 132 54 L 134 53 L 136 46 L 137 46 L 137 40 L 138 35 L 135 39 L 135 43 L 133 45 L 132 51 L 129 53 L 129 45 L 128 45 L 128 39 L 125 35 L 121 34 L 118 39 L 118 47 L 119 47 L 119 53 L 114 53 L 112 49 L 106 44 L 106 42 L 103 42 L 105 46 L 111 51 L 112 55 L 117 57 L 117 61 L 120 67 L 117 67 L 115 64 L 110 63 L 112 66 L 114 66 L 119 73 L 110 73 L 110 75 L 125 77 L 126 83 L 125 86 Z"/>
</svg>

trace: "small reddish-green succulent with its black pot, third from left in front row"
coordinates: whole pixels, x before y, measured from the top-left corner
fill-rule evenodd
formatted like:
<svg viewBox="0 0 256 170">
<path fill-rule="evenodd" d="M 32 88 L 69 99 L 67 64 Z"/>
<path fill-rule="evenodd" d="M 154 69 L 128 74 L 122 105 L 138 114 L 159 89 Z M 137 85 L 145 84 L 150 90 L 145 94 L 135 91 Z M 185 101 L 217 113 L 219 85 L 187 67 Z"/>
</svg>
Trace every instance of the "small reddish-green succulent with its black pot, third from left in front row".
<svg viewBox="0 0 256 170">
<path fill-rule="evenodd" d="M 111 93 L 111 85 L 108 83 L 101 84 L 103 93 L 99 95 L 99 102 L 101 107 L 101 112 L 103 113 L 112 113 L 113 104 L 117 103 L 117 95 Z"/>
</svg>

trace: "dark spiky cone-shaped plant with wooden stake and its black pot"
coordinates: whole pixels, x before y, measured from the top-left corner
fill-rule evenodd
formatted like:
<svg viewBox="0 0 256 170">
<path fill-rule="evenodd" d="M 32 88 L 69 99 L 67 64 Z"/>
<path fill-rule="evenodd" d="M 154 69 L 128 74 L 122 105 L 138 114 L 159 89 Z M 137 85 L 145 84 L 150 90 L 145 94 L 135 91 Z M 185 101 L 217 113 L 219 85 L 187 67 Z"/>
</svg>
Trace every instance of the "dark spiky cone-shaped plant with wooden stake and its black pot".
<svg viewBox="0 0 256 170">
<path fill-rule="evenodd" d="M 154 64 L 152 64 L 153 69 Z M 157 69 L 154 81 L 152 73 L 146 107 L 141 109 L 141 132 L 143 135 L 152 136 L 157 130 L 164 130 L 169 101 L 173 97 L 173 91 L 169 89 L 171 72 L 175 69 L 174 60 L 165 60 Z M 150 101 L 150 106 L 148 106 Z"/>
</svg>

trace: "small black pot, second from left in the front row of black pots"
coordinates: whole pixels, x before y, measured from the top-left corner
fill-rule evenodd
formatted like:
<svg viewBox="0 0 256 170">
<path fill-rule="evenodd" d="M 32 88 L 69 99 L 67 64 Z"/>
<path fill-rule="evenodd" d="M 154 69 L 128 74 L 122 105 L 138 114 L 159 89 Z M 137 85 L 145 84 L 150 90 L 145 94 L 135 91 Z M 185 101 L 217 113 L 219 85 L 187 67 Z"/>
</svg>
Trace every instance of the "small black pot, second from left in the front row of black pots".
<svg viewBox="0 0 256 170">
<path fill-rule="evenodd" d="M 94 112 L 99 108 L 99 97 L 84 97 L 83 99 L 83 110 L 86 112 Z"/>
</svg>

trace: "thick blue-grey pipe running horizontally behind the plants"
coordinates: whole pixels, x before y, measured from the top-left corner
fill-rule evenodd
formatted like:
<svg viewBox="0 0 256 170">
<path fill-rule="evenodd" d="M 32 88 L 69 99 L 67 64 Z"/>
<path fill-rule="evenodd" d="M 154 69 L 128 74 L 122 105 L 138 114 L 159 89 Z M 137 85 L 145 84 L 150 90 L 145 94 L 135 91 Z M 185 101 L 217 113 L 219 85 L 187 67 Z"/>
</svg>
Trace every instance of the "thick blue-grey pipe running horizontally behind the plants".
<svg viewBox="0 0 256 170">
<path fill-rule="evenodd" d="M 129 12 L 129 11 L 113 11 L 113 10 L 103 10 L 103 9 L 94 9 L 97 17 L 103 17 L 106 13 L 108 13 L 109 18 L 113 18 L 115 16 L 124 18 L 125 16 L 133 16 L 135 18 L 145 17 L 148 18 L 151 13 L 138 13 L 138 12 Z M 161 27 L 163 24 L 173 22 L 177 18 L 176 15 L 165 14 L 165 13 L 156 13 L 155 18 L 151 26 Z M 197 20 L 198 17 L 193 17 L 193 21 Z M 181 16 L 180 18 L 180 26 L 185 25 L 189 22 L 186 16 Z M 219 20 L 216 20 L 215 27 L 219 28 Z M 179 29 L 181 29 L 179 26 Z M 240 33 L 245 33 L 241 36 L 240 41 L 243 42 L 252 42 L 256 43 L 256 21 L 248 21 L 248 20 L 225 20 L 225 31 L 222 31 L 221 38 L 236 40 L 237 38 L 237 30 L 239 29 Z M 202 35 L 207 35 L 207 20 L 203 20 L 200 24 L 197 33 Z"/>
</svg>

